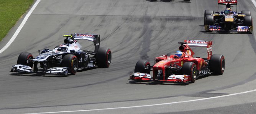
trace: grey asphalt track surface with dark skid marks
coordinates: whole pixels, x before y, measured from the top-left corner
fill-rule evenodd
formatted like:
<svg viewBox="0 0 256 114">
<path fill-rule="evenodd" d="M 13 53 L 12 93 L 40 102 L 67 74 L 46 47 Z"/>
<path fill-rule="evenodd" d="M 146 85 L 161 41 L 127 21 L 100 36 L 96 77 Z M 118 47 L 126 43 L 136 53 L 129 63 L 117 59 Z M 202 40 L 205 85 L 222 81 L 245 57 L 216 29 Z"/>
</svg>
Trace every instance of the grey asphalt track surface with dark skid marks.
<svg viewBox="0 0 256 114">
<path fill-rule="evenodd" d="M 251 0 L 238 3 L 238 11 L 251 11 L 255 24 L 256 8 Z M 154 106 L 256 89 L 254 33 L 204 33 L 205 9 L 216 11 L 217 1 L 41 0 L 17 38 L 0 54 L 0 113 L 255 113 L 256 92 Z M 19 24 L 0 42 L 1 49 Z M 38 49 L 52 49 L 63 43 L 62 35 L 71 33 L 100 34 L 100 47 L 112 51 L 110 68 L 79 71 L 72 76 L 9 72 L 20 52 L 31 52 L 35 57 Z M 189 85 L 127 81 L 139 59 L 153 64 L 154 57 L 177 51 L 177 42 L 187 39 L 212 40 L 213 54 L 225 57 L 224 74 L 201 77 Z M 94 48 L 89 41 L 80 44 L 84 49 Z M 207 55 L 205 48 L 194 48 L 194 52 L 200 57 Z M 152 106 L 105 109 L 141 105 Z"/>
</svg>

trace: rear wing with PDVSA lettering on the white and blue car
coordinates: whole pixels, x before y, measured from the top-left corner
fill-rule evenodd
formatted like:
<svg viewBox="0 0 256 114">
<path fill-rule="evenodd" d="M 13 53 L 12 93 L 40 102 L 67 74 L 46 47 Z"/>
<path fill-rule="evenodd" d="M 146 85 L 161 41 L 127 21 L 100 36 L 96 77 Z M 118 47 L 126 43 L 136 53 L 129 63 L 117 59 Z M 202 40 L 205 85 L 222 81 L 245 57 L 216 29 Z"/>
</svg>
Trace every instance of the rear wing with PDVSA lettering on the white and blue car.
<svg viewBox="0 0 256 114">
<path fill-rule="evenodd" d="M 97 52 L 100 48 L 100 35 L 96 34 L 71 34 L 71 35 L 63 35 L 66 37 L 71 37 L 74 40 L 89 40 L 94 42 L 94 52 Z"/>
</svg>

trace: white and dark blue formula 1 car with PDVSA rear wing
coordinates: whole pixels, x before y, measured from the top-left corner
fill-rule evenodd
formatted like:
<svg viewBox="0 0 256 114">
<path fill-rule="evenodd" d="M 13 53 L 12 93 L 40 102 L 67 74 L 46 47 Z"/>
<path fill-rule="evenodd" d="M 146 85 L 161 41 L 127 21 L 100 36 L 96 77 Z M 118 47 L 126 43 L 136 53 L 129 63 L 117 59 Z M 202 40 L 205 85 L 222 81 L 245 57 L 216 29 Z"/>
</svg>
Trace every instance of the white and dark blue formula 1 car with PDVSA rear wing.
<svg viewBox="0 0 256 114">
<path fill-rule="evenodd" d="M 52 73 L 75 74 L 77 70 L 85 68 L 107 68 L 111 63 L 111 51 L 109 48 L 100 47 L 100 36 L 95 34 L 72 34 L 66 37 L 64 44 L 54 49 L 44 49 L 41 54 L 33 58 L 28 52 L 22 52 L 17 65 L 11 67 L 11 72 L 19 73 Z M 82 51 L 77 40 L 89 40 L 94 42 L 94 51 Z M 38 69 L 38 63 L 40 68 Z M 34 67 L 34 68 L 33 68 Z M 33 68 L 33 70 L 32 70 Z"/>
</svg>

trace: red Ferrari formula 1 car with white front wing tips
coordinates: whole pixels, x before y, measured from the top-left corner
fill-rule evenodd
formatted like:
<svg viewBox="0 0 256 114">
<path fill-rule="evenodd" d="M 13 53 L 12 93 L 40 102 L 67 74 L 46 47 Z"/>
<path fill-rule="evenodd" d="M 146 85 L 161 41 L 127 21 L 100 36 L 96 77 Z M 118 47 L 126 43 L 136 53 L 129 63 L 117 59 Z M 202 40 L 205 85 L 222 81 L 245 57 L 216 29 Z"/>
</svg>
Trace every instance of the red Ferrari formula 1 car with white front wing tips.
<svg viewBox="0 0 256 114">
<path fill-rule="evenodd" d="M 153 66 L 147 60 L 139 60 L 129 80 L 194 83 L 199 76 L 223 74 L 225 59 L 223 55 L 212 55 L 212 41 L 184 40 L 179 44 L 180 51 L 156 57 Z M 190 47 L 207 47 L 207 58 L 194 58 Z"/>
</svg>

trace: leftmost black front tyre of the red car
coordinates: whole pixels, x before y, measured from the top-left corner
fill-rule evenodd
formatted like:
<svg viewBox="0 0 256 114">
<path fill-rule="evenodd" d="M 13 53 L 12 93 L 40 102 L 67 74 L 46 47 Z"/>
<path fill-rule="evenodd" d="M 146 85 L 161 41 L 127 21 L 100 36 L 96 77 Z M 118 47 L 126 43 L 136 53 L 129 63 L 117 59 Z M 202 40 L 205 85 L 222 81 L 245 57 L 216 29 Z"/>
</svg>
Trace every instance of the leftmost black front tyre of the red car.
<svg viewBox="0 0 256 114">
<path fill-rule="evenodd" d="M 150 63 L 147 60 L 139 60 L 135 65 L 134 72 L 150 74 L 150 68 L 145 69 L 146 66 L 150 67 Z"/>
</svg>

